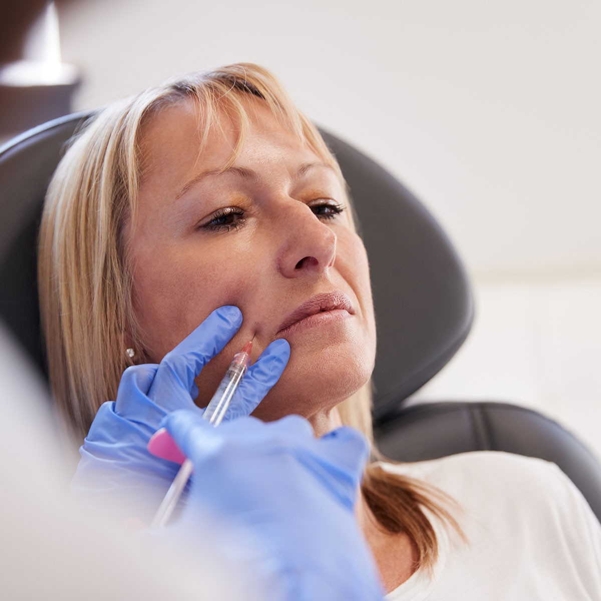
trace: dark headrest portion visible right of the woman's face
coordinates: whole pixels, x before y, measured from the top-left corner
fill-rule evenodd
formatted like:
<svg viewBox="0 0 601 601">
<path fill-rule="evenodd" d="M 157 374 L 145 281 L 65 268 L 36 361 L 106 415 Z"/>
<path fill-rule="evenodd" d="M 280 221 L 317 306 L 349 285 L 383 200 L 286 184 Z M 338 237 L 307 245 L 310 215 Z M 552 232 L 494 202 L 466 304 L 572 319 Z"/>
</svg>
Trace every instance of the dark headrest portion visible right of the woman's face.
<svg viewBox="0 0 601 601">
<path fill-rule="evenodd" d="M 374 416 L 382 418 L 459 349 L 472 325 L 472 294 L 453 246 L 423 204 L 373 160 L 328 133 L 324 138 L 349 184 L 370 258 Z"/>
</svg>

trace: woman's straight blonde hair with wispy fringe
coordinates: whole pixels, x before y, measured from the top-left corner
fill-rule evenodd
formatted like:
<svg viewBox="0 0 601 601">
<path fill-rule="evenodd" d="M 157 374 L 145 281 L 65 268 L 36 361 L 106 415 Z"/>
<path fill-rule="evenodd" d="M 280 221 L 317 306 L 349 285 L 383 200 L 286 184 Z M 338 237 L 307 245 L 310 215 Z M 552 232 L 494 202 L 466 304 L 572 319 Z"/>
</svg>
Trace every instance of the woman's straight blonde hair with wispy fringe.
<svg viewBox="0 0 601 601">
<path fill-rule="evenodd" d="M 40 310 L 53 393 L 80 435 L 85 436 L 100 405 L 117 396 L 121 374 L 133 363 L 124 353 L 127 341 L 143 346 L 132 308 L 123 228 L 127 219 L 135 219 L 144 177 L 144 124 L 163 107 L 191 98 L 200 110 L 201 141 L 206 141 L 218 115 L 228 111 L 239 119 L 240 133 L 225 169 L 236 159 L 248 130 L 243 105 L 248 94 L 264 102 L 344 183 L 316 127 L 271 73 L 250 63 L 192 73 L 109 106 L 75 136 L 56 169 L 40 229 Z M 373 442 L 369 382 L 339 410 L 344 424 Z M 421 507 L 449 516 L 424 486 L 369 466 L 363 488 L 383 529 L 409 533 L 420 564 L 431 567 L 436 535 Z"/>
</svg>

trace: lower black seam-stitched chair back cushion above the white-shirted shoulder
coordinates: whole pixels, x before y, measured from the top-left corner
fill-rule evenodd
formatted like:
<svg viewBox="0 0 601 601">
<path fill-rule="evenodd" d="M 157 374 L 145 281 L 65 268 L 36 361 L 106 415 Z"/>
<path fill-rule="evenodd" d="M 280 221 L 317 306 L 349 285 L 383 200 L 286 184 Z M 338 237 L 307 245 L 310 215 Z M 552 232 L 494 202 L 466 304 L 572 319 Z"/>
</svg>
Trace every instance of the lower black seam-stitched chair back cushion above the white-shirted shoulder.
<svg viewBox="0 0 601 601">
<path fill-rule="evenodd" d="M 557 422 L 508 403 L 424 403 L 397 407 L 375 424 L 377 444 L 397 461 L 438 459 L 468 451 L 506 451 L 560 466 L 601 520 L 601 468 L 581 441 Z"/>
</svg>

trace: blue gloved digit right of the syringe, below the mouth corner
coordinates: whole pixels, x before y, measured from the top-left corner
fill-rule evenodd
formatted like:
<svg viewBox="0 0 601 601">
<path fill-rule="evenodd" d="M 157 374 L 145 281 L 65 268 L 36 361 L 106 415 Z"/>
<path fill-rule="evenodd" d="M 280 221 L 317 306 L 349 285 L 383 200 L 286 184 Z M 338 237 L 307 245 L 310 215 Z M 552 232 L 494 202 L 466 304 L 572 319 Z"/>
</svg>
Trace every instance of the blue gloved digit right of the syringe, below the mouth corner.
<svg viewBox="0 0 601 601">
<path fill-rule="evenodd" d="M 284 338 L 274 340 L 248 368 L 246 376 L 231 400 L 224 419 L 230 421 L 250 415 L 267 392 L 279 380 L 290 359 L 290 344 Z"/>
</svg>

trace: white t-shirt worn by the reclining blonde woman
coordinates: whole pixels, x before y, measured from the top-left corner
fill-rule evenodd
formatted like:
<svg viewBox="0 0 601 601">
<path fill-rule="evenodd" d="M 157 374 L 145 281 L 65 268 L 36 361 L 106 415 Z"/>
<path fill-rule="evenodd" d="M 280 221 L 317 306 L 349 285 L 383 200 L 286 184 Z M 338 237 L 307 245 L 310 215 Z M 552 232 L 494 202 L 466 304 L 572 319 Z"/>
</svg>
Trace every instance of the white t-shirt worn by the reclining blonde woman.
<svg viewBox="0 0 601 601">
<path fill-rule="evenodd" d="M 433 578 L 418 570 L 386 601 L 601 600 L 601 525 L 554 463 L 480 451 L 380 465 L 452 496 L 468 538 L 430 516 L 440 550 Z"/>
</svg>

